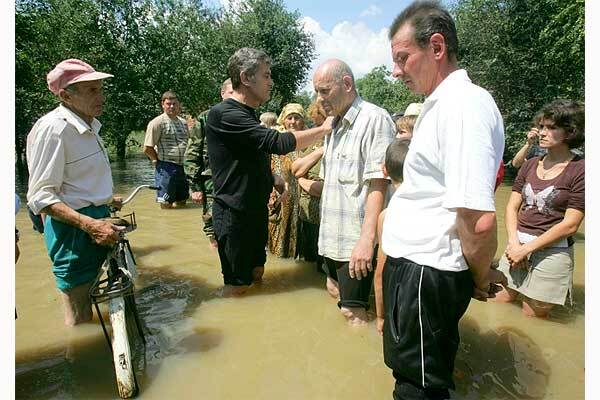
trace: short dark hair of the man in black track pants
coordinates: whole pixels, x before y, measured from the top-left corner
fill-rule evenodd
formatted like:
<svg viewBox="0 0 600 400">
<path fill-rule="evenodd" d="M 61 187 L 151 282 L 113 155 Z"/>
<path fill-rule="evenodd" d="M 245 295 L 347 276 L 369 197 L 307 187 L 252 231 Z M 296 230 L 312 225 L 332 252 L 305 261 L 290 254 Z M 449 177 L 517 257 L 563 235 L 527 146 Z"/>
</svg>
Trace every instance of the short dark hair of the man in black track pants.
<svg viewBox="0 0 600 400">
<path fill-rule="evenodd" d="M 420 48 L 426 48 L 431 36 L 439 33 L 446 40 L 448 58 L 458 58 L 458 36 L 454 20 L 438 1 L 417 0 L 406 7 L 392 22 L 390 40 L 405 24 L 414 28 L 415 42 Z"/>
</svg>

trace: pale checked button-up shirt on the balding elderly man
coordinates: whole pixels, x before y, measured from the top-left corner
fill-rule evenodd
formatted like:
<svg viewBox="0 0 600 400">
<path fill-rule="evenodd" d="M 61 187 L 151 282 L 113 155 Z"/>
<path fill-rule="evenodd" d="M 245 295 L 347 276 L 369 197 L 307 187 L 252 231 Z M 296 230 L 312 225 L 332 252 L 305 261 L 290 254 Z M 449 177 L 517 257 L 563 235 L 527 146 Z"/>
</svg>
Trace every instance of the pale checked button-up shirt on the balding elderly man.
<svg viewBox="0 0 600 400">
<path fill-rule="evenodd" d="M 395 134 L 387 111 L 357 97 L 325 137 L 319 254 L 350 260 L 365 217 L 369 180 L 385 178 L 381 164 Z"/>
</svg>

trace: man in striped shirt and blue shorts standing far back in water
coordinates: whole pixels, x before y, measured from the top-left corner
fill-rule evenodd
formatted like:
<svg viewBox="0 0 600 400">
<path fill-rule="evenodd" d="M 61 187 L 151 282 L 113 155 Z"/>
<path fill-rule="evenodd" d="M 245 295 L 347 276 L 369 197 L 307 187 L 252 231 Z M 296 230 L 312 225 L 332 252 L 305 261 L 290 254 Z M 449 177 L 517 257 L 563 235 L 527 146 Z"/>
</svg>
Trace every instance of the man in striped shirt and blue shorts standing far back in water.
<svg viewBox="0 0 600 400">
<path fill-rule="evenodd" d="M 185 119 L 179 116 L 179 100 L 168 90 L 161 98 L 164 113 L 154 118 L 146 129 L 144 153 L 155 168 L 155 184 L 160 187 L 156 201 L 161 208 L 184 207 L 189 186 L 183 170 L 188 141 Z"/>
</svg>

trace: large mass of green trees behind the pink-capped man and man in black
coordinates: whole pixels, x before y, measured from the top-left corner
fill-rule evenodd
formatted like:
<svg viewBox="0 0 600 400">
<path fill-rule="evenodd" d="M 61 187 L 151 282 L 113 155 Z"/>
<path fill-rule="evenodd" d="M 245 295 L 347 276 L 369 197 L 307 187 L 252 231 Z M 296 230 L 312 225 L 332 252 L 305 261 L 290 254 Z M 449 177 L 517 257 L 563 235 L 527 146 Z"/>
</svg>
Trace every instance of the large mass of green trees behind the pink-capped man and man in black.
<svg viewBox="0 0 600 400">
<path fill-rule="evenodd" d="M 16 151 L 23 161 L 33 123 L 54 108 L 46 74 L 63 59 L 80 58 L 115 77 L 105 81 L 102 135 L 118 158 L 131 131 L 161 112 L 172 89 L 192 115 L 220 101 L 229 56 L 240 47 L 274 60 L 272 107 L 289 102 L 314 55 L 312 38 L 281 0 L 247 0 L 236 10 L 200 0 L 17 0 Z"/>
</svg>

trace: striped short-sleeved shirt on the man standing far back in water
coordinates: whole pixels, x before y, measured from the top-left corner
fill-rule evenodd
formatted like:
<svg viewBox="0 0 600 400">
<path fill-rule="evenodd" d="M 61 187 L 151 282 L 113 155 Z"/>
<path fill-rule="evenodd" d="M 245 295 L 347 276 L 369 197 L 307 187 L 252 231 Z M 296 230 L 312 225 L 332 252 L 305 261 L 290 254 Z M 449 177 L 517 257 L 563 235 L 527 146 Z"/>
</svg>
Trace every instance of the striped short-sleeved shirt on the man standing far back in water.
<svg viewBox="0 0 600 400">
<path fill-rule="evenodd" d="M 185 120 L 181 117 L 171 119 L 162 113 L 148 124 L 144 146 L 154 147 L 159 160 L 183 165 L 187 141 Z"/>
</svg>

